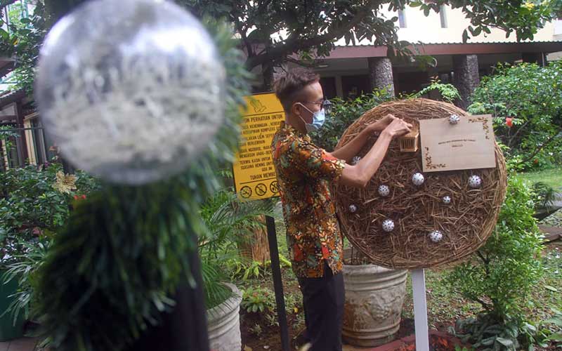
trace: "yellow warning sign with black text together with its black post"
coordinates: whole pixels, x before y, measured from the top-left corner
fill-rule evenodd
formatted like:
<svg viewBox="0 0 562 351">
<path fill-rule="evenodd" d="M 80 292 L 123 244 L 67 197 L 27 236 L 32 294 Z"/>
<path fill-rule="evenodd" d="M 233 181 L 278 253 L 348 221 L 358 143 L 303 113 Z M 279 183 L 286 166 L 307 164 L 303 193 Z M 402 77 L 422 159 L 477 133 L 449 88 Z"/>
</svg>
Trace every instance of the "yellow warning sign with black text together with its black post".
<svg viewBox="0 0 562 351">
<path fill-rule="evenodd" d="M 273 93 L 252 95 L 246 98 L 246 103 L 247 109 L 243 112 L 244 121 L 242 122 L 244 141 L 240 145 L 233 165 L 235 190 L 241 199 L 269 199 L 279 195 L 277 177 L 273 168 L 273 159 L 271 159 L 271 142 L 280 123 L 285 120 L 285 112 Z M 266 227 L 281 347 L 283 351 L 289 351 L 287 312 L 285 311 L 277 234 L 273 217 L 266 216 Z"/>
</svg>

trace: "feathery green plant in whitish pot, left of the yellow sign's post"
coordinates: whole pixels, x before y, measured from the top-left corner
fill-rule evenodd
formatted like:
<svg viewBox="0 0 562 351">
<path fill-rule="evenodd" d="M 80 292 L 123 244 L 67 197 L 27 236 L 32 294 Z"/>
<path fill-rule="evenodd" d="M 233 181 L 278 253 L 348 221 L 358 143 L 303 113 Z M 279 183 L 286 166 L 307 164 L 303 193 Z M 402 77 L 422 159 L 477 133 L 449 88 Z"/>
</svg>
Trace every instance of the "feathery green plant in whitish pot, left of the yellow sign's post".
<svg viewBox="0 0 562 351">
<path fill-rule="evenodd" d="M 207 233 L 199 238 L 207 330 L 211 350 L 240 350 L 240 303 L 242 293 L 225 272 L 227 260 L 239 255 L 237 245 L 251 237 L 260 215 L 273 216 L 269 200 L 240 201 L 232 189 L 216 192 L 202 206 Z"/>
</svg>

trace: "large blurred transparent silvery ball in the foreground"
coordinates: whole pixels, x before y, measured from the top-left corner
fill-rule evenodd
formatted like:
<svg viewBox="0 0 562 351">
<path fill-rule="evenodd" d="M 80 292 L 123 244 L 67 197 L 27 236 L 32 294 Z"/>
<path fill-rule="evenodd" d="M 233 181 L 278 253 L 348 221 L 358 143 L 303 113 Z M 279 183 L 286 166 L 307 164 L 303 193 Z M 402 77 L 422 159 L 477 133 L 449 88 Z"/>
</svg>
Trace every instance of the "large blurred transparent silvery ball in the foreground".
<svg viewBox="0 0 562 351">
<path fill-rule="evenodd" d="M 58 21 L 36 100 L 65 159 L 115 183 L 183 171 L 223 124 L 214 41 L 171 1 L 94 0 Z"/>
</svg>

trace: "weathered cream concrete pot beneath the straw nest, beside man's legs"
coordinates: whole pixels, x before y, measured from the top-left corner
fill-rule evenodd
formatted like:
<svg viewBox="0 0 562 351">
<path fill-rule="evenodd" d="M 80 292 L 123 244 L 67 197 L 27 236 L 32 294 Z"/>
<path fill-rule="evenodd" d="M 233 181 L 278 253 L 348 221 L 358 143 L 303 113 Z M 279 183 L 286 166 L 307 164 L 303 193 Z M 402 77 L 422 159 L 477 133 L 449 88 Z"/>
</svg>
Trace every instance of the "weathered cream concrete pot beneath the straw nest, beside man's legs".
<svg viewBox="0 0 562 351">
<path fill-rule="evenodd" d="M 394 340 L 406 295 L 407 270 L 344 265 L 344 341 L 373 347 Z"/>
</svg>

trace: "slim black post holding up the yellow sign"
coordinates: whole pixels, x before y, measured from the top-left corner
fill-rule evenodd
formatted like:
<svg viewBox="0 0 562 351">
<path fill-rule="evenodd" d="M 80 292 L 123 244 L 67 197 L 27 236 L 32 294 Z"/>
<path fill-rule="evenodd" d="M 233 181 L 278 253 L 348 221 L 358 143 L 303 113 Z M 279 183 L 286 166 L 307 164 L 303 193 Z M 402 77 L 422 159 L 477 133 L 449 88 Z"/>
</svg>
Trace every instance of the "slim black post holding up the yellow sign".
<svg viewBox="0 0 562 351">
<path fill-rule="evenodd" d="M 275 290 L 275 303 L 277 304 L 277 322 L 279 322 L 279 328 L 281 329 L 281 349 L 289 351 L 289 329 L 287 328 L 287 312 L 285 311 L 285 298 L 283 297 L 279 251 L 277 250 L 275 219 L 266 216 L 266 226 L 268 228 L 269 255 L 273 272 L 273 289 Z"/>
</svg>

